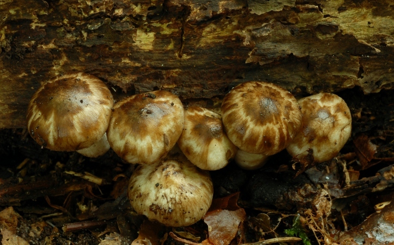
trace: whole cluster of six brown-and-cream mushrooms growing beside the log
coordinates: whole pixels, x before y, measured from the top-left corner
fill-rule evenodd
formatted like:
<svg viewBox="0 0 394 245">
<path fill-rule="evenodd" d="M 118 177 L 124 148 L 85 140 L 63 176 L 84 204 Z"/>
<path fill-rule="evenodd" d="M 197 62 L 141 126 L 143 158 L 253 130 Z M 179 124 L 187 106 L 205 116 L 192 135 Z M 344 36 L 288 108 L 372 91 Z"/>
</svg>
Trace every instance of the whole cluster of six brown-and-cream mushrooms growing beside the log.
<svg viewBox="0 0 394 245">
<path fill-rule="evenodd" d="M 296 98 L 268 82 L 245 82 L 223 99 L 222 114 L 191 106 L 168 91 L 136 94 L 113 104 L 98 78 L 70 73 L 42 84 L 27 114 L 37 143 L 56 151 L 97 157 L 110 147 L 138 163 L 128 196 L 133 209 L 168 226 L 197 222 L 213 196 L 209 172 L 231 159 L 261 167 L 284 149 L 313 152 L 323 162 L 338 154 L 351 132 L 344 101 L 322 93 Z M 182 154 L 167 156 L 175 145 Z"/>
</svg>

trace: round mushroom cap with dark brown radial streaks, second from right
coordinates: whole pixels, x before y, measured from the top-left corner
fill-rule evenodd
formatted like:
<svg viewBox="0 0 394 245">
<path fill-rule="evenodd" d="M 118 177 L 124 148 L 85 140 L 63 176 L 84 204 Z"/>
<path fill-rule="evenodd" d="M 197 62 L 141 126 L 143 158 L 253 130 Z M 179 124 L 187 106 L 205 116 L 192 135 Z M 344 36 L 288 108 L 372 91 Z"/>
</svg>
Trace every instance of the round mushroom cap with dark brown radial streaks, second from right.
<svg viewBox="0 0 394 245">
<path fill-rule="evenodd" d="M 285 149 L 301 125 L 296 98 L 268 82 L 244 82 L 225 96 L 222 120 L 227 136 L 241 150 L 273 155 Z"/>
</svg>

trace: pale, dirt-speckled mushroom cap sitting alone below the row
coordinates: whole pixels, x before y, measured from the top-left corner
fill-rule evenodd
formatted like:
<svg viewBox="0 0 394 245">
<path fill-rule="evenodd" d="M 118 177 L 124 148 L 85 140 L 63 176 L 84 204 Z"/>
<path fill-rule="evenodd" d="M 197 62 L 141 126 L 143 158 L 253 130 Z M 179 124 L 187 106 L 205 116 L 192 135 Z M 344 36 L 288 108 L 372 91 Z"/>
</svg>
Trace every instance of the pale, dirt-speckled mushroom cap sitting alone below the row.
<svg viewBox="0 0 394 245">
<path fill-rule="evenodd" d="M 208 171 L 187 159 L 139 165 L 130 178 L 128 196 L 138 213 L 167 226 L 187 226 L 208 211 L 213 184 Z"/>
</svg>

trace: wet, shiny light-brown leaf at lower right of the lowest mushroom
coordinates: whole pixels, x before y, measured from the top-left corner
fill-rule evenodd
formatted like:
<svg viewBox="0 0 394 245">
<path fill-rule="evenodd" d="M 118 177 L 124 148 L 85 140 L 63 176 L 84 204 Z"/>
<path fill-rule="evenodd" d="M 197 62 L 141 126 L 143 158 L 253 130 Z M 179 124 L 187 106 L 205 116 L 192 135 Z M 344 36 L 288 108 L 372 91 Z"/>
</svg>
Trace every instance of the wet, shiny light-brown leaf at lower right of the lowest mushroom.
<svg viewBox="0 0 394 245">
<path fill-rule="evenodd" d="M 229 245 L 238 232 L 238 226 L 246 217 L 240 208 L 235 211 L 215 210 L 208 212 L 204 222 L 208 225 L 209 241 L 214 245 Z"/>
</svg>

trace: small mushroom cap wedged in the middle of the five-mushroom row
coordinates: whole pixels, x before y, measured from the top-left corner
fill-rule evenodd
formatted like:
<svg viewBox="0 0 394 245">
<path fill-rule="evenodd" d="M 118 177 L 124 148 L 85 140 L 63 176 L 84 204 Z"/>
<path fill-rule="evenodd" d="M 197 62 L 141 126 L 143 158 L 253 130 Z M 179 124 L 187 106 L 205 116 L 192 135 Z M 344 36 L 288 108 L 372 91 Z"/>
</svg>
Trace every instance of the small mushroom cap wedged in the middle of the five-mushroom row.
<svg viewBox="0 0 394 245">
<path fill-rule="evenodd" d="M 185 110 L 178 145 L 190 162 L 205 170 L 225 167 L 237 151 L 224 132 L 221 116 L 197 106 Z"/>
</svg>

